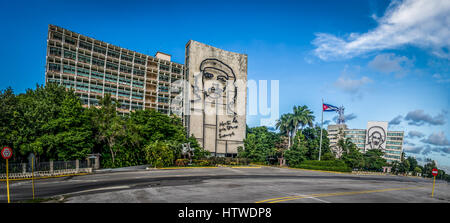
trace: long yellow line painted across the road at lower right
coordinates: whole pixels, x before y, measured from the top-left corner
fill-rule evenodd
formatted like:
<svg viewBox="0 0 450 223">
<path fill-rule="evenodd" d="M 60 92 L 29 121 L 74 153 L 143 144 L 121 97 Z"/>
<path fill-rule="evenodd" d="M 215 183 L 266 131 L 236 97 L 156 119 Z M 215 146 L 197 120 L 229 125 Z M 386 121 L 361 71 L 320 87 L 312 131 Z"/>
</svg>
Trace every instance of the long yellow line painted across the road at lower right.
<svg viewBox="0 0 450 223">
<path fill-rule="evenodd" d="M 324 193 L 324 194 L 310 194 L 310 195 L 300 195 L 300 196 L 290 196 L 290 197 L 278 197 L 271 198 L 262 201 L 257 201 L 255 203 L 278 203 L 284 201 L 298 200 L 303 198 L 316 198 L 316 197 L 331 197 L 331 196 L 344 196 L 344 195 L 355 195 L 355 194 L 369 194 L 369 193 L 377 193 L 377 192 L 387 192 L 387 191 L 396 191 L 396 190 L 411 190 L 417 188 L 425 188 L 421 187 L 404 187 L 404 188 L 389 188 L 389 189 L 380 189 L 380 190 L 366 190 L 366 191 L 352 191 L 352 192 L 337 192 L 337 193 Z"/>
</svg>

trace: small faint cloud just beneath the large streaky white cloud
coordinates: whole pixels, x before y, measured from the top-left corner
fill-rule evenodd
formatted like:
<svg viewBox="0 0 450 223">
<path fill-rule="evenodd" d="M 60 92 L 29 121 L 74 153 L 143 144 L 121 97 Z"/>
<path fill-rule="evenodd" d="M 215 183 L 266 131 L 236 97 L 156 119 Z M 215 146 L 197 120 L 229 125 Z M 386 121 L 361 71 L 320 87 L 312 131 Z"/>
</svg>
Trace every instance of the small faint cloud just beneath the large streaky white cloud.
<svg viewBox="0 0 450 223">
<path fill-rule="evenodd" d="M 369 67 L 386 74 L 395 73 L 396 77 L 406 75 L 407 69 L 412 67 L 412 60 L 405 56 L 396 56 L 393 53 L 383 53 L 377 55 L 369 62 Z"/>
</svg>

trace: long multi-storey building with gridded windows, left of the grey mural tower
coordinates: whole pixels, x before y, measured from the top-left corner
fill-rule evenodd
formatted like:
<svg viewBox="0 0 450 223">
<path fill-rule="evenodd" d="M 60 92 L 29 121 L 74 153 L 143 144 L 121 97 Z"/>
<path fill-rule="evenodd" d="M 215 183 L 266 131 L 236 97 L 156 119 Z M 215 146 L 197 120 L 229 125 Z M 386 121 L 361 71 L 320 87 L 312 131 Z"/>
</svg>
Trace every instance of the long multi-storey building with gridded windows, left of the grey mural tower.
<svg viewBox="0 0 450 223">
<path fill-rule="evenodd" d="M 49 25 L 46 83 L 73 88 L 85 107 L 97 106 L 109 93 L 121 103 L 118 112 L 156 109 L 182 116 L 182 103 L 172 103 L 182 91 L 173 82 L 184 79 L 184 65 L 168 54 L 154 57 Z"/>
</svg>

